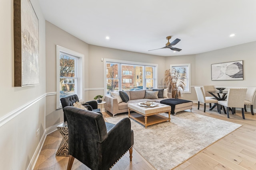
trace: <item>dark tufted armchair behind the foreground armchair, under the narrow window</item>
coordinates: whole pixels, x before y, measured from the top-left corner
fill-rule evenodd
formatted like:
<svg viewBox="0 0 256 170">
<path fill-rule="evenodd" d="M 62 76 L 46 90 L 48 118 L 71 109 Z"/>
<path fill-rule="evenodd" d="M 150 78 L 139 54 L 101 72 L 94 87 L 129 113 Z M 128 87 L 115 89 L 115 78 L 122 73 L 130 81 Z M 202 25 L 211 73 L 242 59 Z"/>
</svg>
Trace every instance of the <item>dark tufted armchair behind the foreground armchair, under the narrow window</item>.
<svg viewBox="0 0 256 170">
<path fill-rule="evenodd" d="M 70 96 L 66 96 L 64 98 L 60 99 L 61 105 L 62 105 L 62 109 L 64 111 L 64 107 L 66 106 L 73 106 L 74 103 L 79 102 L 79 98 L 76 94 L 70 95 Z M 88 109 L 90 111 L 100 111 L 100 109 L 98 109 L 98 102 L 95 100 L 86 102 L 88 103 L 88 105 L 86 105 L 88 107 Z M 65 115 L 64 115 L 64 122 L 67 121 Z"/>
</svg>

